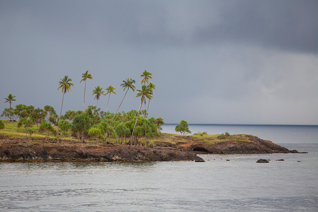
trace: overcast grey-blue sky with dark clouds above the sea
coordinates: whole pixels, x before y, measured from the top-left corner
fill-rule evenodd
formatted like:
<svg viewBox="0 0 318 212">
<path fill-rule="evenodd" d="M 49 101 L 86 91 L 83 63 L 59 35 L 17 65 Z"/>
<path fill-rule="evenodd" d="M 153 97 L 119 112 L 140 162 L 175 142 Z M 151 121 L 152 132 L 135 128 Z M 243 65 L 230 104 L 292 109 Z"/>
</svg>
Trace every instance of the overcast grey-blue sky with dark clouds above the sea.
<svg viewBox="0 0 318 212">
<path fill-rule="evenodd" d="M 0 98 L 59 113 L 146 69 L 165 123 L 318 124 L 318 1 L 0 1 Z M 120 111 L 139 109 L 128 91 Z M 108 96 L 98 106 L 106 110 Z M 4 102 L 4 100 L 3 100 Z M 148 102 L 147 102 L 148 103 Z M 0 103 L 0 111 L 9 107 Z M 142 106 L 146 109 L 147 104 Z"/>
</svg>

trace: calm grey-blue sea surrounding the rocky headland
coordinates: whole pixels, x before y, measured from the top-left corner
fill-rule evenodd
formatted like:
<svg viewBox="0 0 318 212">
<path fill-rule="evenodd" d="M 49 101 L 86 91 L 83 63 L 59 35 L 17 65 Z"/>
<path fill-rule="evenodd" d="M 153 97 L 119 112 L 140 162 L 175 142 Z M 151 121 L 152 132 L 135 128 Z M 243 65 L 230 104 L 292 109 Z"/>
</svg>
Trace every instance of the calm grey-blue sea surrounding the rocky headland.
<svg viewBox="0 0 318 212">
<path fill-rule="evenodd" d="M 164 124 L 163 132 L 174 127 Z M 204 163 L 0 162 L 0 211 L 318 210 L 318 126 L 189 128 L 253 134 L 309 153 L 199 154 Z M 260 158 L 270 162 L 256 163 Z"/>
</svg>

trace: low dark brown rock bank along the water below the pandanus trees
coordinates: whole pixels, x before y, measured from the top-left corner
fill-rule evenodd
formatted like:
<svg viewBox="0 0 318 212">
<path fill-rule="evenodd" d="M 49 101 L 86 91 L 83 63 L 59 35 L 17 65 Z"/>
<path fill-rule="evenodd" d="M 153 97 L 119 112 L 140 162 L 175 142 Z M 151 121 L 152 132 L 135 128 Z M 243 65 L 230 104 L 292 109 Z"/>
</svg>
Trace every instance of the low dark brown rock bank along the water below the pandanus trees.
<svg viewBox="0 0 318 212">
<path fill-rule="evenodd" d="M 193 151 L 144 147 L 116 147 L 111 149 L 77 149 L 64 146 L 3 146 L 0 160 L 79 160 L 79 161 L 169 161 L 198 160 Z"/>
</svg>

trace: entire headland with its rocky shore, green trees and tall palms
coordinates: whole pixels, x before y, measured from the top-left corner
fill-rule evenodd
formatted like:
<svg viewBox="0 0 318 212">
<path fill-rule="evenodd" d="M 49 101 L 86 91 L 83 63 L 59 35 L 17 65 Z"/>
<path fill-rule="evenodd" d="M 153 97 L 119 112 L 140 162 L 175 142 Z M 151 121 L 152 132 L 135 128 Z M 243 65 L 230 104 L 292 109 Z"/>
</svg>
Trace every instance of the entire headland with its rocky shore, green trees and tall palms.
<svg viewBox="0 0 318 212">
<path fill-rule="evenodd" d="M 86 80 L 93 80 L 86 70 L 82 74 L 84 86 L 83 110 L 67 110 L 62 115 L 65 94 L 74 86 L 65 75 L 59 81 L 58 90 L 63 93 L 60 114 L 51 105 L 35 108 L 33 105 L 17 104 L 11 107 L 16 96 L 9 94 L 5 102 L 10 103 L 1 114 L 8 120 L 0 120 L 0 160 L 195 160 L 204 162 L 196 153 L 288 153 L 288 149 L 256 136 L 228 132 L 208 135 L 207 132 L 190 134 L 188 123 L 181 120 L 175 131 L 180 135 L 161 133 L 164 120 L 161 117 L 148 118 L 150 100 L 156 85 L 149 80 L 152 73 L 140 75 L 141 89 L 136 81 L 123 80 L 121 87 L 125 95 L 115 113 L 107 111 L 110 94 L 116 95 L 113 86 L 99 85 L 92 91 L 96 106 L 85 109 Z M 104 89 L 107 92 L 104 92 Z M 137 91 L 139 109 L 118 112 L 128 90 Z M 100 96 L 108 95 L 106 111 L 98 108 Z M 148 106 L 147 101 L 148 100 Z M 144 104 L 147 109 L 141 110 Z M 103 105 L 104 107 L 104 105 Z M 17 121 L 18 119 L 18 121 Z"/>
</svg>

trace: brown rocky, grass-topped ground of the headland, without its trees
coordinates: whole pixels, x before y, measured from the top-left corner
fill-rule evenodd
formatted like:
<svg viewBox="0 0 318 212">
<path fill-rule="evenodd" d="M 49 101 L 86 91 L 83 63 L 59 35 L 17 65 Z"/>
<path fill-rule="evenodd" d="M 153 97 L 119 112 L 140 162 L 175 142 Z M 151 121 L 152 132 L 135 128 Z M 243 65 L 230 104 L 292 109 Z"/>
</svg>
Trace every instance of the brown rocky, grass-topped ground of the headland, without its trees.
<svg viewBox="0 0 318 212">
<path fill-rule="evenodd" d="M 298 153 L 271 141 L 247 134 L 218 138 L 217 135 L 189 135 L 162 133 L 151 140 L 150 146 L 121 145 L 104 142 L 85 143 L 55 139 L 0 135 L 0 161 L 172 161 L 195 160 L 204 162 L 197 153 Z"/>
</svg>

